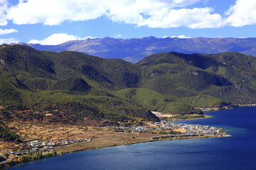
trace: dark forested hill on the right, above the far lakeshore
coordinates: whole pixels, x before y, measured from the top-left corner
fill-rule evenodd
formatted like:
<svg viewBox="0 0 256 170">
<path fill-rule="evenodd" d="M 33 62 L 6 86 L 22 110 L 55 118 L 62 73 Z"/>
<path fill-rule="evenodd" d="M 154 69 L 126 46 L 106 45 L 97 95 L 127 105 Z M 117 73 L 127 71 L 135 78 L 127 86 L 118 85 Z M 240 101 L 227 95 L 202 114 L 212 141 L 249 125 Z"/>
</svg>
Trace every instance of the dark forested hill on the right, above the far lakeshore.
<svg viewBox="0 0 256 170">
<path fill-rule="evenodd" d="M 256 59 L 238 52 L 145 57 L 139 86 L 178 97 L 207 94 L 232 103 L 256 103 Z"/>
</svg>

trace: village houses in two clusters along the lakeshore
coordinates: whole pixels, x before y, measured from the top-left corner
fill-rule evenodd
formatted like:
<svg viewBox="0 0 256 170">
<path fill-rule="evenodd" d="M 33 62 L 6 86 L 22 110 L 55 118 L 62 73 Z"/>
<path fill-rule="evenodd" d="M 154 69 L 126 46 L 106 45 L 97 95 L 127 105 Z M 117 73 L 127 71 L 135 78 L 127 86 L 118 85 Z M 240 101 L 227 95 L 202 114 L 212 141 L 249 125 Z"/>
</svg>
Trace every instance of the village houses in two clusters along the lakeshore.
<svg viewBox="0 0 256 170">
<path fill-rule="evenodd" d="M 159 140 L 161 138 L 188 138 L 188 137 L 225 137 L 225 132 L 222 128 L 210 127 L 208 125 L 186 125 L 183 123 L 171 123 L 166 120 L 161 122 L 149 123 L 146 125 L 127 127 L 122 126 L 107 126 L 108 131 L 129 133 L 129 134 L 154 134 L 151 140 Z M 159 134 L 159 136 L 156 136 Z M 6 150 L 4 154 L 11 157 L 19 157 L 26 154 L 35 154 L 36 152 L 52 152 L 55 149 L 65 147 L 68 145 L 85 143 L 94 141 L 93 138 L 85 139 L 65 139 L 60 142 L 45 142 L 40 140 L 32 140 L 24 144 L 22 150 L 9 151 Z"/>
</svg>

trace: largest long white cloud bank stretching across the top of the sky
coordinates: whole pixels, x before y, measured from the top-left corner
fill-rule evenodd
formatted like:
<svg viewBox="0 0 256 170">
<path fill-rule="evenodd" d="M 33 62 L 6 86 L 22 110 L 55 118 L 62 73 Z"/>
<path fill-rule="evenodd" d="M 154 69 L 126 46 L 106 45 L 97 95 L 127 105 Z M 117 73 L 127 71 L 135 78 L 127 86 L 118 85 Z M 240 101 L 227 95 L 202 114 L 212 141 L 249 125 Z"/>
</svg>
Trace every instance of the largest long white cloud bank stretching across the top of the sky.
<svg viewBox="0 0 256 170">
<path fill-rule="evenodd" d="M 59 25 L 64 21 L 87 21 L 107 16 L 150 28 L 218 28 L 222 17 L 212 8 L 186 8 L 206 0 L 28 0 L 20 1 L 8 11 L 16 24 L 44 23 Z M 213 14 L 212 14 L 213 13 Z"/>
</svg>

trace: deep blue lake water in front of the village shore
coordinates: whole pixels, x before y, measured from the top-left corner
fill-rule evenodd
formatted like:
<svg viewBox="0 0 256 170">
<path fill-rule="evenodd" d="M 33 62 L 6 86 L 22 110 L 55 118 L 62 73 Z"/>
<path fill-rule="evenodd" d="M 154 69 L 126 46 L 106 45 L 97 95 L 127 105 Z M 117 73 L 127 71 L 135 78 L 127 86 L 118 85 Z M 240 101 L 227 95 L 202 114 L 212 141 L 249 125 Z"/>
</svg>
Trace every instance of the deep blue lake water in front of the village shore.
<svg viewBox="0 0 256 170">
<path fill-rule="evenodd" d="M 179 123 L 213 125 L 232 137 L 168 140 L 87 150 L 17 165 L 51 169 L 256 169 L 256 108 L 208 112 L 213 118 Z"/>
</svg>

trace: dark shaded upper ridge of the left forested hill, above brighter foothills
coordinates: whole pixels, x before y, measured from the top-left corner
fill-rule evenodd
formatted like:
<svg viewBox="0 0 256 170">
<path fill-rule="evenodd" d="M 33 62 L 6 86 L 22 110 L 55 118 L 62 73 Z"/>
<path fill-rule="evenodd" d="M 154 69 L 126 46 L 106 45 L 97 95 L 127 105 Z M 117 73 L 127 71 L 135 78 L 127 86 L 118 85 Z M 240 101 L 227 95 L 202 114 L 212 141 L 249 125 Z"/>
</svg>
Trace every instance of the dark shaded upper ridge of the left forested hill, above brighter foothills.
<svg viewBox="0 0 256 170">
<path fill-rule="evenodd" d="M 56 81 L 74 81 L 79 77 L 112 89 L 137 87 L 139 82 L 139 69 L 119 59 L 107 60 L 80 52 L 44 52 L 25 45 L 1 47 L 0 56 L 1 75 L 16 77 L 29 88 L 65 89 Z"/>
</svg>

